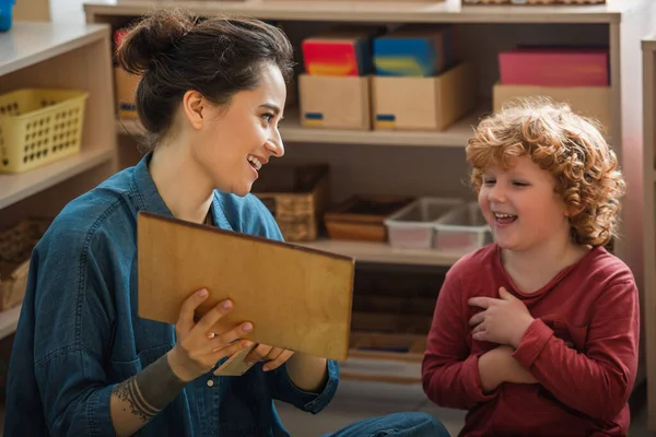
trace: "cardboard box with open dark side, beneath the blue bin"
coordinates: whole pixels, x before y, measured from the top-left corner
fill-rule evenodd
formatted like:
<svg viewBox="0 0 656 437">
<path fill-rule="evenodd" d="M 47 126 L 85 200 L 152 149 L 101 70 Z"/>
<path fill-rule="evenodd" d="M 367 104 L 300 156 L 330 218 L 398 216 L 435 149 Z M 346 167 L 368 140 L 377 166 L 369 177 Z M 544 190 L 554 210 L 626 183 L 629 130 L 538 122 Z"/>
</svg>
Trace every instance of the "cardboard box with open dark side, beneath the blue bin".
<svg viewBox="0 0 656 437">
<path fill-rule="evenodd" d="M 433 78 L 375 76 L 374 129 L 444 130 L 473 110 L 476 83 L 468 63 Z"/>
</svg>

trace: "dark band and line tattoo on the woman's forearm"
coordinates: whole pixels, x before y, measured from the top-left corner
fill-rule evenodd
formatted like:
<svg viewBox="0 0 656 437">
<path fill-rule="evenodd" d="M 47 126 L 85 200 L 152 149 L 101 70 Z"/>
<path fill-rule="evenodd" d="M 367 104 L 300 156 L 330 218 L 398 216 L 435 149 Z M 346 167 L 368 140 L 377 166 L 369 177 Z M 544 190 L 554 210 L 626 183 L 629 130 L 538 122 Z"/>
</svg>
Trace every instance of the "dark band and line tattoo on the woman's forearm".
<svg viewBox="0 0 656 437">
<path fill-rule="evenodd" d="M 130 379 L 119 383 L 114 394 L 130 405 L 133 415 L 148 422 L 164 410 L 185 388 L 168 366 L 168 358 L 163 355 Z"/>
</svg>

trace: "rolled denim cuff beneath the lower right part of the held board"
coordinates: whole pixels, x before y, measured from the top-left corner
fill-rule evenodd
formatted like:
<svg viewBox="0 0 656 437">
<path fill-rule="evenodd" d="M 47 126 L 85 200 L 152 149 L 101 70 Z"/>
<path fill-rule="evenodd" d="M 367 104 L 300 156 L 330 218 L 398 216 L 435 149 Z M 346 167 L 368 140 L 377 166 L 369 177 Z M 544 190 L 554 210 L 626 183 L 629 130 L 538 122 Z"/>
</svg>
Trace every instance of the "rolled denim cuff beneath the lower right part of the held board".
<svg viewBox="0 0 656 437">
<path fill-rule="evenodd" d="M 327 359 L 327 370 L 328 380 L 321 392 L 311 393 L 294 386 L 286 371 L 286 366 L 280 366 L 270 375 L 273 399 L 288 402 L 302 411 L 318 414 L 330 403 L 339 385 L 339 364 Z"/>
</svg>

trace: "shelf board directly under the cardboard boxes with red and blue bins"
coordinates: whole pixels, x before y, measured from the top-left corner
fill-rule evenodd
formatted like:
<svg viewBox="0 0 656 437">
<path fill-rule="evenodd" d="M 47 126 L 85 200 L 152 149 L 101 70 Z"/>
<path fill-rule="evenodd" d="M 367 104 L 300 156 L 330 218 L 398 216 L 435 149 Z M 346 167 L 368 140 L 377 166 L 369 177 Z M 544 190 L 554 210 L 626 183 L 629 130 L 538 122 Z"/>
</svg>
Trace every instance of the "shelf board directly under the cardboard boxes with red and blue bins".
<svg viewBox="0 0 656 437">
<path fill-rule="evenodd" d="M 479 118 L 489 111 L 490 105 L 481 106 L 444 131 L 394 131 L 306 128 L 301 126 L 297 108 L 290 108 L 280 123 L 280 134 L 283 141 L 294 143 L 464 147 Z M 139 135 L 143 127 L 138 120 L 120 119 L 116 130 L 119 134 Z"/>
</svg>

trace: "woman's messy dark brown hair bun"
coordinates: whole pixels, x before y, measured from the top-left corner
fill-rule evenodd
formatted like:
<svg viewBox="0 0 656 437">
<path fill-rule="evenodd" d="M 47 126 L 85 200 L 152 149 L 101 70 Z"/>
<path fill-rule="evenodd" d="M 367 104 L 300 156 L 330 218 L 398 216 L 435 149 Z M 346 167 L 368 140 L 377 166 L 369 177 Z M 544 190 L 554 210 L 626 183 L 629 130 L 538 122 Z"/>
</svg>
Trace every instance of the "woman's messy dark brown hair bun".
<svg viewBox="0 0 656 437">
<path fill-rule="evenodd" d="M 178 9 L 154 11 L 129 28 L 116 60 L 127 72 L 142 74 L 194 26 L 196 19 Z"/>
</svg>

